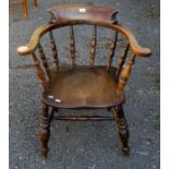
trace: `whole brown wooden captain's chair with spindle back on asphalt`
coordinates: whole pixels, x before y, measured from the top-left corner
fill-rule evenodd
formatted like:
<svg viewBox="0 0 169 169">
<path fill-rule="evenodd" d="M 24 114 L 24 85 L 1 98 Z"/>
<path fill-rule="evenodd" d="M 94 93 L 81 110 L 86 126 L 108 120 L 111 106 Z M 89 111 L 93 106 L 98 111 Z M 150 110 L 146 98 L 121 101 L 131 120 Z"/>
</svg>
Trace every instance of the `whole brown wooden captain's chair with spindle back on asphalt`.
<svg viewBox="0 0 169 169">
<path fill-rule="evenodd" d="M 122 153 L 129 155 L 129 130 L 122 108 L 125 100 L 123 88 L 131 75 L 135 58 L 137 56 L 149 57 L 150 50 L 141 47 L 131 31 L 117 22 L 117 10 L 96 4 L 71 4 L 55 7 L 47 11 L 51 14 L 50 22 L 38 27 L 26 46 L 17 48 L 19 55 L 32 56 L 37 77 L 44 87 L 41 94 L 43 113 L 39 124 L 41 155 L 47 157 L 50 122 L 52 119 L 72 121 L 114 119 L 122 142 Z M 89 65 L 81 67 L 75 63 L 76 48 L 73 27 L 74 25 L 84 24 L 92 25 L 94 28 L 90 39 Z M 52 31 L 63 26 L 70 26 L 71 65 L 69 69 L 62 69 L 60 65 L 52 34 Z M 112 39 L 107 58 L 107 67 L 94 65 L 98 26 L 104 26 L 114 33 L 114 38 Z M 49 67 L 46 53 L 40 44 L 40 37 L 47 33 L 50 38 L 55 69 Z M 116 57 L 114 53 L 119 40 L 118 35 L 120 34 L 125 39 L 125 48 L 121 53 L 118 65 L 111 65 Z M 36 56 L 36 49 L 39 52 L 39 58 Z M 55 117 L 53 113 L 60 108 L 79 110 L 84 108 L 106 108 L 112 112 L 113 118 L 101 116 Z"/>
</svg>

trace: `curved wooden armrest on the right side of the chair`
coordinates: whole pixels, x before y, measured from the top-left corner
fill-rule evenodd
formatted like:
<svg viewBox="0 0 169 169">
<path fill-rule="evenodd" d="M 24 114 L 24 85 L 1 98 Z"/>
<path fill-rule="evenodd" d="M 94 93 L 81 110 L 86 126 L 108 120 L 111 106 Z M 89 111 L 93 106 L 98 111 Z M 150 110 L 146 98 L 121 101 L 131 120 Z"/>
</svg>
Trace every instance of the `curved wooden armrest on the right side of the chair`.
<svg viewBox="0 0 169 169">
<path fill-rule="evenodd" d="M 152 55 L 152 51 L 149 48 L 145 48 L 145 47 L 142 47 L 138 45 L 134 35 L 132 34 L 132 32 L 128 27 L 125 27 L 121 24 L 113 25 L 113 27 L 126 36 L 126 38 L 130 43 L 130 47 L 131 47 L 134 55 L 141 56 L 141 57 L 149 57 Z"/>
</svg>

